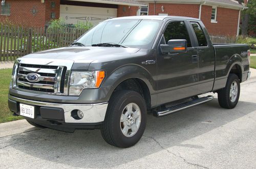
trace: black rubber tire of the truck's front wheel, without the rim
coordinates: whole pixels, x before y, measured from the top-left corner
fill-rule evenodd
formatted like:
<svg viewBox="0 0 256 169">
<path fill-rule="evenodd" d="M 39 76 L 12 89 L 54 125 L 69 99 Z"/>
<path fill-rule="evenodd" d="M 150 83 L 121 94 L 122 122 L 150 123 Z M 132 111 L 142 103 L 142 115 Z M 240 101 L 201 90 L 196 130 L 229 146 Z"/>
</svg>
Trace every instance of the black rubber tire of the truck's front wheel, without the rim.
<svg viewBox="0 0 256 169">
<path fill-rule="evenodd" d="M 137 129 L 137 132 L 135 132 L 134 135 L 132 135 L 131 137 L 127 137 L 122 132 L 120 118 L 125 110 L 125 107 L 127 107 L 129 104 L 134 103 L 139 107 L 140 110 L 140 125 Z M 131 147 L 140 140 L 145 130 L 145 127 L 146 103 L 143 97 L 139 93 L 129 90 L 122 90 L 113 93 L 109 101 L 108 109 L 105 115 L 105 120 L 102 124 L 101 129 L 101 135 L 104 138 L 104 140 L 110 145 L 116 147 Z"/>
</svg>

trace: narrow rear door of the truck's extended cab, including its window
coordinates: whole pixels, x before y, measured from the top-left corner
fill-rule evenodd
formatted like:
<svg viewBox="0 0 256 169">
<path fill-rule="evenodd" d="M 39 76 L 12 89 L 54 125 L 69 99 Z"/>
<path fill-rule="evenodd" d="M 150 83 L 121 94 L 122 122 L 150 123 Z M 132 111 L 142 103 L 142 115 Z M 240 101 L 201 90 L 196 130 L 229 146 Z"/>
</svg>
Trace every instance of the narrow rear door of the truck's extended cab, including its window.
<svg viewBox="0 0 256 169">
<path fill-rule="evenodd" d="M 199 59 L 199 85 L 198 94 L 210 92 L 214 86 L 215 78 L 215 50 L 209 41 L 209 36 L 204 25 L 201 22 L 190 21 Z M 208 38 L 206 38 L 208 37 Z"/>
</svg>

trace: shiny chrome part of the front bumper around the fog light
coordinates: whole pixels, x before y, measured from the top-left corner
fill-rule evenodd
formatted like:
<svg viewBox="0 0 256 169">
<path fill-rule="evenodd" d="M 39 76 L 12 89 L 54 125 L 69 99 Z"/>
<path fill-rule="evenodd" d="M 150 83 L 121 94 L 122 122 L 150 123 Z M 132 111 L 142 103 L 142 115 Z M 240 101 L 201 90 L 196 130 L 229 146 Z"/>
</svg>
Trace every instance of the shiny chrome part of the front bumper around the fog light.
<svg viewBox="0 0 256 169">
<path fill-rule="evenodd" d="M 65 123 L 100 123 L 104 121 L 106 108 L 108 107 L 108 102 L 96 103 L 96 104 L 59 104 L 59 103 L 49 103 L 40 102 L 27 99 L 21 99 L 9 95 L 9 99 L 16 101 L 17 103 L 30 104 L 35 106 L 45 106 L 62 108 L 64 110 Z M 71 117 L 71 111 L 74 109 L 79 109 L 83 112 L 83 118 L 80 120 L 73 119 Z"/>
</svg>

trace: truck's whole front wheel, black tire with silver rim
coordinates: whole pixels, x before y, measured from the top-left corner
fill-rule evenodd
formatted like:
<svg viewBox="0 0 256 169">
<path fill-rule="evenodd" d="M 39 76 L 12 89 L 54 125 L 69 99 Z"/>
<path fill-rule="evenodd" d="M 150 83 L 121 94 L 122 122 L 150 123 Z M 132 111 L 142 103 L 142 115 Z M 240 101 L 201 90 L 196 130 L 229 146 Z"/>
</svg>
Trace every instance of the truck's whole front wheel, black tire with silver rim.
<svg viewBox="0 0 256 169">
<path fill-rule="evenodd" d="M 135 145 L 145 130 L 146 103 L 134 91 L 117 91 L 109 101 L 101 134 L 110 145 L 127 148 Z"/>
</svg>

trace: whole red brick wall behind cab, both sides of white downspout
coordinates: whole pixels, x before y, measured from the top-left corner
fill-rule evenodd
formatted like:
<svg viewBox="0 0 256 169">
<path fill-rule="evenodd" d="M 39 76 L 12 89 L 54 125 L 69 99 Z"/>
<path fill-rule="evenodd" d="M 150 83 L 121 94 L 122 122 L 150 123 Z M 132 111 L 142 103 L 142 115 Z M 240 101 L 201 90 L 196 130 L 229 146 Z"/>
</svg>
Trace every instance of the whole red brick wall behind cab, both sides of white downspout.
<svg viewBox="0 0 256 169">
<path fill-rule="evenodd" d="M 164 7 L 164 12 L 161 7 Z M 156 4 L 155 15 L 167 13 L 173 16 L 199 17 L 199 5 L 196 4 Z M 149 4 L 149 15 L 154 15 L 154 4 Z M 239 10 L 220 8 L 217 10 L 218 23 L 211 23 L 211 6 L 202 6 L 201 20 L 205 24 L 208 32 L 212 35 L 237 35 Z"/>
</svg>

